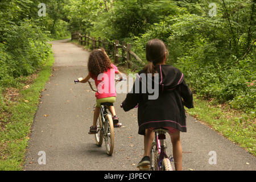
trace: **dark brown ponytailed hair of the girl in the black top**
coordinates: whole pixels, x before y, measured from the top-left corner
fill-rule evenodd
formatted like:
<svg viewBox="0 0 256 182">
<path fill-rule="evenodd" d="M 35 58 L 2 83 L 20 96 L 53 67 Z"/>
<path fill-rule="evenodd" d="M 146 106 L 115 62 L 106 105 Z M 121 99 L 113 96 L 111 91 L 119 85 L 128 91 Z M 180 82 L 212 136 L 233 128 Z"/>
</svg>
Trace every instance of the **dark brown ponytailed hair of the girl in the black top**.
<svg viewBox="0 0 256 182">
<path fill-rule="evenodd" d="M 155 65 L 163 62 L 165 54 L 167 59 L 169 52 L 166 44 L 164 44 L 162 40 L 150 40 L 146 46 L 146 59 L 150 63 L 148 63 L 144 67 L 144 72 L 152 73 L 152 75 L 154 75 L 154 73 L 157 73 L 157 71 L 155 70 Z"/>
</svg>

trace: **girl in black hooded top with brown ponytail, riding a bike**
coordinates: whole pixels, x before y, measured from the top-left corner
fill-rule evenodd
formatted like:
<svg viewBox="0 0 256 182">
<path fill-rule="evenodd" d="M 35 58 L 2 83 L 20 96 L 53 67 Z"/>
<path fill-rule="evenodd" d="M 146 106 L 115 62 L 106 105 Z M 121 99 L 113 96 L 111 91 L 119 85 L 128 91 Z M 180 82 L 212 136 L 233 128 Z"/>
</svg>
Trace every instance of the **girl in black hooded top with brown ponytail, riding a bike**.
<svg viewBox="0 0 256 182">
<path fill-rule="evenodd" d="M 139 93 L 133 89 L 122 102 L 123 110 L 129 111 L 138 104 L 138 133 L 144 135 L 144 157 L 138 166 L 150 164 L 150 149 L 154 140 L 154 128 L 166 128 L 171 135 L 175 169 L 182 170 L 182 148 L 180 131 L 187 132 L 184 106 L 193 107 L 192 92 L 184 81 L 184 75 L 179 69 L 166 65 L 168 49 L 162 40 L 153 39 L 147 43 L 146 58 L 150 61 L 142 71 L 138 73 Z M 158 82 L 159 96 L 155 100 L 148 99 L 151 92 L 142 92 L 142 87 L 148 84 L 143 80 L 142 74 L 151 73 L 151 81 Z M 158 77 L 155 75 L 158 73 Z M 155 75 L 155 76 L 154 76 Z M 146 80 L 149 78 L 146 77 Z M 136 82 L 136 81 L 135 81 Z M 147 86 L 146 86 L 147 88 Z"/>
</svg>

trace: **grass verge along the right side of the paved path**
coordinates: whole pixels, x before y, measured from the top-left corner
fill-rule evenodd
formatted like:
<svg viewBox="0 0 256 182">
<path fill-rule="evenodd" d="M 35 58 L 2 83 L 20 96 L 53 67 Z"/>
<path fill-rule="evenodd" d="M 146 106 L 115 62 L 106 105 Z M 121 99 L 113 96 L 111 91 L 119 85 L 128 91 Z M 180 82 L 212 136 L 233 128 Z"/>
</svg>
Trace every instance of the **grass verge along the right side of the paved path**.
<svg viewBox="0 0 256 182">
<path fill-rule="evenodd" d="M 256 155 L 255 114 L 230 109 L 228 105 L 216 105 L 194 95 L 193 109 L 187 113 L 208 125 L 232 142 Z"/>
</svg>

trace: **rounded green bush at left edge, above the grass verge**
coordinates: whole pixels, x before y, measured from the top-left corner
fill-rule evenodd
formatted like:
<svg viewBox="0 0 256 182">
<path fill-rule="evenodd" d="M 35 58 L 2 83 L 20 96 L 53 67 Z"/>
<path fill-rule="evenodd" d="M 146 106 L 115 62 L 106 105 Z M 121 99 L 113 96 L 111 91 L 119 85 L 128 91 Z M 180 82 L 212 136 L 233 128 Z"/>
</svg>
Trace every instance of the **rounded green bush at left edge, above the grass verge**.
<svg viewBox="0 0 256 182">
<path fill-rule="evenodd" d="M 0 43 L 0 85 L 13 86 L 15 78 L 34 73 L 50 53 L 46 41 L 41 28 L 30 20 L 6 24 L 5 37 Z"/>
</svg>

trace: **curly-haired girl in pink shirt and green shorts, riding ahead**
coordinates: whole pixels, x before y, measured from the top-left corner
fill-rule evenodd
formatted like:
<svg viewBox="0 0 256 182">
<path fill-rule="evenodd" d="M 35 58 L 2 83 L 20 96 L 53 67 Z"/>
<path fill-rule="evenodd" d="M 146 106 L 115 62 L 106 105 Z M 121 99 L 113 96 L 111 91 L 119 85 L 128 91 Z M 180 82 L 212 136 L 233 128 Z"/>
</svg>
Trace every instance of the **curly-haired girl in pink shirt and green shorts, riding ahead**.
<svg viewBox="0 0 256 182">
<path fill-rule="evenodd" d="M 115 74 L 122 74 L 118 71 L 117 67 L 111 63 L 109 56 L 103 48 L 96 49 L 90 53 L 88 61 L 88 76 L 84 79 L 79 78 L 79 81 L 86 83 L 90 78 L 95 81 L 97 92 L 96 107 L 93 115 L 93 126 L 90 127 L 89 134 L 96 134 L 97 132 L 97 119 L 100 114 L 101 103 L 115 102 L 117 93 L 115 92 Z M 114 106 L 109 106 L 109 110 L 113 115 L 114 127 L 120 127 L 118 118 L 115 113 Z"/>
</svg>

